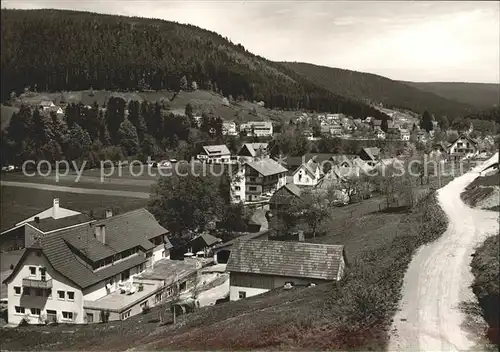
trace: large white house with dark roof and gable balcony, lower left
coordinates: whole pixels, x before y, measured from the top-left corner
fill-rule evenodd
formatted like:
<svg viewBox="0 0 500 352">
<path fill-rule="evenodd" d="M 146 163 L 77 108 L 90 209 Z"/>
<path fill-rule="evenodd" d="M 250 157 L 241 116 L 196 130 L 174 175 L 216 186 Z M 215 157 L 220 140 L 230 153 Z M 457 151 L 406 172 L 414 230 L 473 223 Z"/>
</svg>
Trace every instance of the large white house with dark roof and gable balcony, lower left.
<svg viewBox="0 0 500 352">
<path fill-rule="evenodd" d="M 131 278 L 169 257 L 166 234 L 151 213 L 138 209 L 35 238 L 4 280 L 9 323 L 98 322 L 92 302 L 117 290 L 133 295 Z M 117 318 L 124 319 L 127 311 L 121 310 L 128 308 L 120 301 L 106 309 L 114 303 Z"/>
</svg>

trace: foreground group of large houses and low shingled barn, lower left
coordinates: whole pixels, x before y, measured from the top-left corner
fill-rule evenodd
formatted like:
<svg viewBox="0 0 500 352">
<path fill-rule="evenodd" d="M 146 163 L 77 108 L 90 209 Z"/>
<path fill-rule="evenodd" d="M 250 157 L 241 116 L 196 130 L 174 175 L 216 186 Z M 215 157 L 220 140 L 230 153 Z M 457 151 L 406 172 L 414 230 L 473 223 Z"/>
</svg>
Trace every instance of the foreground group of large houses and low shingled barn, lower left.
<svg viewBox="0 0 500 352">
<path fill-rule="evenodd" d="M 55 199 L 0 235 L 2 249 L 23 250 L 2 282 L 8 323 L 126 320 L 178 302 L 207 272 L 228 271 L 226 296 L 238 300 L 340 280 L 347 265 L 343 246 L 270 240 L 269 231 L 226 243 L 201 234 L 189 243 L 196 253 L 172 260 L 168 234 L 146 209 L 94 220 Z"/>
</svg>

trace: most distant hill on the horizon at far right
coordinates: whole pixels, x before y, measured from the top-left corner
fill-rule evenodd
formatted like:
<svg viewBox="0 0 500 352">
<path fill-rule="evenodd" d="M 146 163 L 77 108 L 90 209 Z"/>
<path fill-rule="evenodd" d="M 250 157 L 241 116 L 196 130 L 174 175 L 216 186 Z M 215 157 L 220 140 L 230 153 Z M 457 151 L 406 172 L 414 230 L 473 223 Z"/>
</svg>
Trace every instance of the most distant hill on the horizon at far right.
<svg viewBox="0 0 500 352">
<path fill-rule="evenodd" d="M 460 82 L 402 82 L 447 99 L 491 108 L 500 105 L 500 84 Z"/>
</svg>

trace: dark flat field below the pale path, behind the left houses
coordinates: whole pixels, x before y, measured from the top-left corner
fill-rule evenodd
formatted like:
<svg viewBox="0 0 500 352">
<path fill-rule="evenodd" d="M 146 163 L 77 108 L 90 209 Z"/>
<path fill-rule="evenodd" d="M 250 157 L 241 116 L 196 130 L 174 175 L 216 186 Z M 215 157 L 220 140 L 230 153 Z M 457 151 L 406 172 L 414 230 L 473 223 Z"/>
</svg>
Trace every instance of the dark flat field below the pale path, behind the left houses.
<svg viewBox="0 0 500 352">
<path fill-rule="evenodd" d="M 106 209 L 115 214 L 146 206 L 147 199 L 111 197 L 45 191 L 22 187 L 1 187 L 1 230 L 52 206 L 52 199 L 59 198 L 61 207 L 102 217 Z"/>
</svg>

